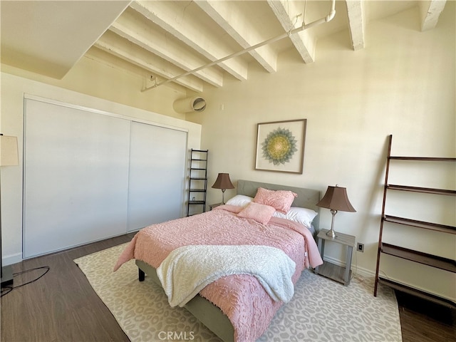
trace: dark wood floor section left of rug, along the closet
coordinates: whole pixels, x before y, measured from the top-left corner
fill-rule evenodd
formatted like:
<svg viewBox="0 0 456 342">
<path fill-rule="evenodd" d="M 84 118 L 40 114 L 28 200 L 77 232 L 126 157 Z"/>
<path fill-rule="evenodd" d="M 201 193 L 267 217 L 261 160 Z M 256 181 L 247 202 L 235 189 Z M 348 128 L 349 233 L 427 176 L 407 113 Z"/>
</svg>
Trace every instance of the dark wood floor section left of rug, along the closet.
<svg viewBox="0 0 456 342">
<path fill-rule="evenodd" d="M 129 341 L 73 259 L 132 237 L 127 234 L 15 264 L 15 273 L 41 266 L 50 270 L 38 281 L 1 297 L 1 341 Z M 14 286 L 36 279 L 43 271 L 15 276 Z"/>
</svg>

